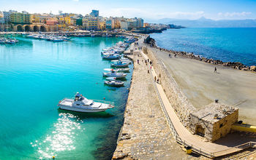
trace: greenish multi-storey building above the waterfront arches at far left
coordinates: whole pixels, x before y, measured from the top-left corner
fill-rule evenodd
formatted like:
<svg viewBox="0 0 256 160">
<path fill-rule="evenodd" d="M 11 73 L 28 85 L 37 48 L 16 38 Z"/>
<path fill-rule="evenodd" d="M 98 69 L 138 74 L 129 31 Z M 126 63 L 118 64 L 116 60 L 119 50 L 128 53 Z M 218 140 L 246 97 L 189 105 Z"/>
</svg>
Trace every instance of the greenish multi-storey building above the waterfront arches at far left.
<svg viewBox="0 0 256 160">
<path fill-rule="evenodd" d="M 31 16 L 28 12 L 12 12 L 10 14 L 10 22 L 13 24 L 30 24 Z"/>
</svg>

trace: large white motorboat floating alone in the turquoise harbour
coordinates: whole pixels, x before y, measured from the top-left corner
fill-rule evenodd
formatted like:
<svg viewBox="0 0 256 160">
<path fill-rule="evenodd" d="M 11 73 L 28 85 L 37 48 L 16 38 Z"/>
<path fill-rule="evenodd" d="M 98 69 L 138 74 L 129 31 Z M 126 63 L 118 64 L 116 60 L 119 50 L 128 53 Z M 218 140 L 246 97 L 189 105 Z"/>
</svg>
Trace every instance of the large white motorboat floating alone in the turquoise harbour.
<svg viewBox="0 0 256 160">
<path fill-rule="evenodd" d="M 114 108 L 114 103 L 104 100 L 88 100 L 80 93 L 75 95 L 75 99 L 64 98 L 59 101 L 59 108 L 77 112 L 102 112 L 109 108 Z"/>
</svg>

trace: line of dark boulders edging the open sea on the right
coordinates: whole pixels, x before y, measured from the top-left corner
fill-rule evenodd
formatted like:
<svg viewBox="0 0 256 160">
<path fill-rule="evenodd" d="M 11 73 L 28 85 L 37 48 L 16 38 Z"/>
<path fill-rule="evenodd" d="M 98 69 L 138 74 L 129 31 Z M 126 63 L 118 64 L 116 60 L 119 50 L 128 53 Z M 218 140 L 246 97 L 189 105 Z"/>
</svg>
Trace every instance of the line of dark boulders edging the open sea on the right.
<svg viewBox="0 0 256 160">
<path fill-rule="evenodd" d="M 206 57 L 202 57 L 200 55 L 194 55 L 193 52 L 178 52 L 178 51 L 173 51 L 171 49 L 164 49 L 161 47 L 157 47 L 156 41 L 154 39 L 151 39 L 149 36 L 146 40 L 146 43 L 149 44 L 151 47 L 155 47 L 157 49 L 160 49 L 162 51 L 165 52 L 170 52 L 176 55 L 180 55 L 182 57 L 188 57 L 191 59 L 195 59 L 195 60 L 200 60 L 203 61 L 205 63 L 211 63 L 214 65 L 223 65 L 223 66 L 227 66 L 227 67 L 231 67 L 234 69 L 238 69 L 238 70 L 243 70 L 243 71 L 253 71 L 256 72 L 256 66 L 252 65 L 252 66 L 246 66 L 243 63 L 239 63 L 239 62 L 222 62 L 222 60 L 214 60 L 212 58 L 206 58 Z"/>
</svg>

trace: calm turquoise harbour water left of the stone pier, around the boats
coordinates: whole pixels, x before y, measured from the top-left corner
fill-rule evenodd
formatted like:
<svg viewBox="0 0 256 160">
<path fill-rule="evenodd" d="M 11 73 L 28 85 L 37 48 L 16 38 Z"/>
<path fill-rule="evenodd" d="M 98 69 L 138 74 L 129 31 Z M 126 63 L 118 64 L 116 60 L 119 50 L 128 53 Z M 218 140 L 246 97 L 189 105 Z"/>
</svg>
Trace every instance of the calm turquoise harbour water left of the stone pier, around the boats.
<svg viewBox="0 0 256 160">
<path fill-rule="evenodd" d="M 0 45 L 0 159 L 110 159 L 123 122 L 125 87 L 103 84 L 102 48 L 121 39 L 73 38 L 54 43 L 17 37 Z M 130 66 L 132 69 L 132 65 Z M 64 97 L 80 92 L 113 101 L 103 113 L 61 111 Z"/>
</svg>

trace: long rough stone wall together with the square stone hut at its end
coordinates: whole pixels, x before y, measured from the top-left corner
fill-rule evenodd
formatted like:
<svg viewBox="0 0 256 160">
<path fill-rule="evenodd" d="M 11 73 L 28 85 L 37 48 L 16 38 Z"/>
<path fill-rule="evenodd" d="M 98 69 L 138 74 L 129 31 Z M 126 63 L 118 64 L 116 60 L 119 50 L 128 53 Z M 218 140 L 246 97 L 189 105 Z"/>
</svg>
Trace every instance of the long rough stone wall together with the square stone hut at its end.
<svg viewBox="0 0 256 160">
<path fill-rule="evenodd" d="M 187 127 L 193 134 L 210 141 L 218 140 L 230 133 L 232 124 L 238 121 L 237 108 L 221 103 L 211 103 L 206 108 L 197 111 L 181 92 L 165 64 L 155 55 L 156 53 L 150 47 L 143 47 L 143 52 L 153 62 L 165 94 L 184 127 Z"/>
</svg>

